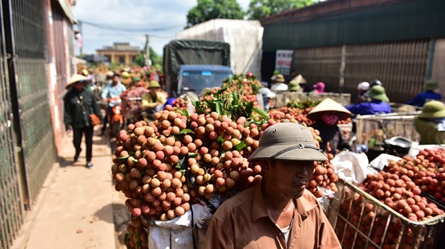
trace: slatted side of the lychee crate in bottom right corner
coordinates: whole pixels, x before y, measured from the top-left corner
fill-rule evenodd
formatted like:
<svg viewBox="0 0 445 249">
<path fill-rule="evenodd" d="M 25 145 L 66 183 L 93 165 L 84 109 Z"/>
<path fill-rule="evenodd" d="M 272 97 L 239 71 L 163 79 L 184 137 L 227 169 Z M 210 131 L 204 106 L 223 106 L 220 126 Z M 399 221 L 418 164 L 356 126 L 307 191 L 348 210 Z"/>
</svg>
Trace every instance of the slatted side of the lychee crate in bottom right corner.
<svg viewBox="0 0 445 249">
<path fill-rule="evenodd" d="M 434 248 L 440 239 L 445 214 L 412 222 L 354 185 L 336 185 L 327 216 L 342 248 Z"/>
</svg>

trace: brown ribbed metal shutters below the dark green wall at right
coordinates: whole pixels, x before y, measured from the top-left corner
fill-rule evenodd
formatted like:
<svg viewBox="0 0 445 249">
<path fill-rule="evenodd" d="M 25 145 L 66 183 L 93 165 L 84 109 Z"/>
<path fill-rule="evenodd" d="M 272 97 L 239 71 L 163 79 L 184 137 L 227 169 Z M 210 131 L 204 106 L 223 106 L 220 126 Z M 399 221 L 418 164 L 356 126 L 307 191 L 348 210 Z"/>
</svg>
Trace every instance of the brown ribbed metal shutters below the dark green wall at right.
<svg viewBox="0 0 445 249">
<path fill-rule="evenodd" d="M 295 49 L 293 68 L 309 84 L 322 81 L 326 92 L 353 98 L 358 83 L 378 79 L 391 102 L 404 103 L 422 92 L 430 46 L 423 39 Z"/>
</svg>

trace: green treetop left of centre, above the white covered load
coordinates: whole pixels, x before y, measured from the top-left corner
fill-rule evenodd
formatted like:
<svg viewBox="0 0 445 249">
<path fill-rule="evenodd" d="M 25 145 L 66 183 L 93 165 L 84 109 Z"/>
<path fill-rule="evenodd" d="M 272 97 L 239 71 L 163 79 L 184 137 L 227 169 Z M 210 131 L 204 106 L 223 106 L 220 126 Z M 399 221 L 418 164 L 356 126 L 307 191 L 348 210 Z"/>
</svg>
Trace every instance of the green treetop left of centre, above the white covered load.
<svg viewBox="0 0 445 249">
<path fill-rule="evenodd" d="M 244 12 L 236 0 L 198 0 L 187 13 L 187 27 L 212 19 L 244 19 Z"/>
</svg>

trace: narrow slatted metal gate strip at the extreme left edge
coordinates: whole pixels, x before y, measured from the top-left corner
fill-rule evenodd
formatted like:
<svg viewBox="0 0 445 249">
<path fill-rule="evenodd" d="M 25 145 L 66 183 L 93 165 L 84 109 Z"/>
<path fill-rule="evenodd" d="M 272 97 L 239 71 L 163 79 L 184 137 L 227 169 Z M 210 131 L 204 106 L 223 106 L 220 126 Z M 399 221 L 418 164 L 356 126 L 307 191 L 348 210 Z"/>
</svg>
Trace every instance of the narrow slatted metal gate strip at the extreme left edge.
<svg viewBox="0 0 445 249">
<path fill-rule="evenodd" d="M 0 0 L 0 20 L 5 16 Z M 14 126 L 5 33 L 0 25 L 0 248 L 8 248 L 23 223 L 21 178 L 14 153 Z"/>
</svg>

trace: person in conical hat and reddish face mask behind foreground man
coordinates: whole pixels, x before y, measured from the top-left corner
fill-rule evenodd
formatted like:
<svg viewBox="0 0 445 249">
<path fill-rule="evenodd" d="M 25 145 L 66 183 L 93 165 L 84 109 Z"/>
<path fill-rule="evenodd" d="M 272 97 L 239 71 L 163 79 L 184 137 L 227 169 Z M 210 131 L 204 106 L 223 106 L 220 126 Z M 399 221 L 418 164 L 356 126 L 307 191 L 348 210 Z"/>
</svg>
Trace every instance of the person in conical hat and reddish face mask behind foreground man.
<svg viewBox="0 0 445 249">
<path fill-rule="evenodd" d="M 334 155 L 341 150 L 351 150 L 350 144 L 337 126 L 340 120 L 351 116 L 349 110 L 330 98 L 324 99 L 308 113 L 308 119 L 316 121 L 312 128 L 320 132 L 321 150 Z"/>
</svg>

